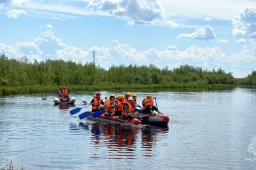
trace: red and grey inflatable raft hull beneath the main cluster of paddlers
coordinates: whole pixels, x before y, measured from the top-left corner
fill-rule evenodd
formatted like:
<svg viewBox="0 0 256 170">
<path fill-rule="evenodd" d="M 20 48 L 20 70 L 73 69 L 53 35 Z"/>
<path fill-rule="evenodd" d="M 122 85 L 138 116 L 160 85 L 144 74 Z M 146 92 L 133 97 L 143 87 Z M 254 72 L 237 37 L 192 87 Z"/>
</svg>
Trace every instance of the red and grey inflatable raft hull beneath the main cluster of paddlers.
<svg viewBox="0 0 256 170">
<path fill-rule="evenodd" d="M 98 122 L 106 122 L 109 124 L 118 124 L 118 125 L 140 125 L 141 121 L 137 118 L 131 118 L 131 120 L 123 120 L 122 118 L 116 117 L 105 117 L 104 114 L 100 115 L 97 118 L 92 117 L 92 113 L 87 117 L 89 120 L 95 120 Z"/>
</svg>

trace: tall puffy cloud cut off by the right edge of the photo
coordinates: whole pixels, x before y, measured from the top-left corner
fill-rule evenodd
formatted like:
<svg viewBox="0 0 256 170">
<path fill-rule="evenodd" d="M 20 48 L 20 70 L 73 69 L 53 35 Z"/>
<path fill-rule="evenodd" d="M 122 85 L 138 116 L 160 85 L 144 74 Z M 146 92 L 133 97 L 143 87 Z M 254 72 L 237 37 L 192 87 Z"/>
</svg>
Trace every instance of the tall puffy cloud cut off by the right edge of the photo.
<svg viewBox="0 0 256 170">
<path fill-rule="evenodd" d="M 256 6 L 245 8 L 233 18 L 232 34 L 237 38 L 256 39 Z"/>
</svg>

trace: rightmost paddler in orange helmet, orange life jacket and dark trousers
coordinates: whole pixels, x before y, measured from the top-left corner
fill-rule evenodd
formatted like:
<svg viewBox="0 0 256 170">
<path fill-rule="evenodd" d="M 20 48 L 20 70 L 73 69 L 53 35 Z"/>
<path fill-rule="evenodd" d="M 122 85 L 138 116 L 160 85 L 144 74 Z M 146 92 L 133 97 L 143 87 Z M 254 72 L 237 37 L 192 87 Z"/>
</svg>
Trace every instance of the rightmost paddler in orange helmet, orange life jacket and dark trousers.
<svg viewBox="0 0 256 170">
<path fill-rule="evenodd" d="M 151 115 L 155 115 L 154 110 L 157 111 L 157 113 L 162 114 L 161 111 L 158 110 L 156 106 L 154 106 L 153 99 L 156 99 L 156 97 L 153 97 L 151 95 L 147 95 L 145 99 L 142 101 L 143 106 L 143 113 L 150 113 Z"/>
</svg>

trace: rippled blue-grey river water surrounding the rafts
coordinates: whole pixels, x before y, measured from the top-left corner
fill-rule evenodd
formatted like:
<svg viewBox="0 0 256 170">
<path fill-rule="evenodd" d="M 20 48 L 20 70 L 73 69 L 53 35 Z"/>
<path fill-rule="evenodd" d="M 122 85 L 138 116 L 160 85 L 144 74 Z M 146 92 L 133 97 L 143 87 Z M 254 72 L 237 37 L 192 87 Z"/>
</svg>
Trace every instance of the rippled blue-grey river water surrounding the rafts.
<svg viewBox="0 0 256 170">
<path fill-rule="evenodd" d="M 141 103 L 146 93 L 136 93 Z M 53 94 L 45 101 L 39 94 L 1 97 L 0 168 L 10 160 L 15 169 L 255 168 L 256 89 L 150 94 L 170 118 L 168 127 L 71 117 L 68 111 L 90 103 L 92 92 L 73 92 L 81 100 L 76 106 L 54 106 Z"/>
</svg>

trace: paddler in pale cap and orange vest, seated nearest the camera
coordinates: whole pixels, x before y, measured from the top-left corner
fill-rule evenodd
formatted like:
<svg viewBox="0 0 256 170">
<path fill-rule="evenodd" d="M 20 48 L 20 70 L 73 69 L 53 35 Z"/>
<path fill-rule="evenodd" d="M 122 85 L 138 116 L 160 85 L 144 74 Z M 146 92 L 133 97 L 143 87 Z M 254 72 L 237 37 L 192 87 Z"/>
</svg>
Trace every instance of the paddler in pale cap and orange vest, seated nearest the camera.
<svg viewBox="0 0 256 170">
<path fill-rule="evenodd" d="M 133 103 L 134 101 L 132 97 L 129 97 L 128 101 L 124 102 L 123 113 L 122 113 L 124 119 L 130 120 L 131 118 L 139 118 L 138 111 L 134 111 Z"/>
</svg>

